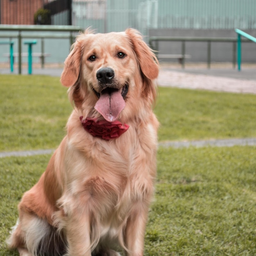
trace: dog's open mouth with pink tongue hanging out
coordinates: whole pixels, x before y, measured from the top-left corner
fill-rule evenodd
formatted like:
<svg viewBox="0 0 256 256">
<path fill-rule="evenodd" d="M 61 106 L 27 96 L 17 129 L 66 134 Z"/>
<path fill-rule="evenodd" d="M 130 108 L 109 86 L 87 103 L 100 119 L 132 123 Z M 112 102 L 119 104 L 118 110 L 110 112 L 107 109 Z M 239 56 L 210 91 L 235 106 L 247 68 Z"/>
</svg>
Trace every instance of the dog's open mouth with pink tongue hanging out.
<svg viewBox="0 0 256 256">
<path fill-rule="evenodd" d="M 106 87 L 101 92 L 93 89 L 99 98 L 94 108 L 109 122 L 117 120 L 119 114 L 124 109 L 126 95 L 129 86 L 125 84 L 122 89 Z"/>
</svg>

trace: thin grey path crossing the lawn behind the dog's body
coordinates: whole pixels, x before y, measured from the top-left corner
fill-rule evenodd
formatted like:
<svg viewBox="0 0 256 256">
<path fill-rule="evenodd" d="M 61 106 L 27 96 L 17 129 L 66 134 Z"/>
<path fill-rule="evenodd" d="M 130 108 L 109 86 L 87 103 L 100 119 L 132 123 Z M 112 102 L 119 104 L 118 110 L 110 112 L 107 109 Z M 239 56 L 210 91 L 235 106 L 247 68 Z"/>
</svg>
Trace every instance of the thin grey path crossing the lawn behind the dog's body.
<svg viewBox="0 0 256 256">
<path fill-rule="evenodd" d="M 244 139 L 211 139 L 211 140 L 197 140 L 197 141 L 161 141 L 158 143 L 159 147 L 233 147 L 233 146 L 256 146 L 256 138 L 244 138 Z M 45 150 L 26 150 L 26 151 L 11 151 L 0 152 L 0 158 L 2 157 L 27 157 L 31 155 L 51 155 L 54 149 Z"/>
</svg>

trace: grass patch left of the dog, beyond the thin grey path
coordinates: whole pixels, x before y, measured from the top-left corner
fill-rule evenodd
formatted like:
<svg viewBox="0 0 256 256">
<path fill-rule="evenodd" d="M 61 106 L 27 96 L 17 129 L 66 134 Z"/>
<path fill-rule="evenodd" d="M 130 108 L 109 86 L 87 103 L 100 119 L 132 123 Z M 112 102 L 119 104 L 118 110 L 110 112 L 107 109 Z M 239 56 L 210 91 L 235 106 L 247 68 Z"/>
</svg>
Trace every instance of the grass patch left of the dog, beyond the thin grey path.
<svg viewBox="0 0 256 256">
<path fill-rule="evenodd" d="M 72 111 L 59 78 L 0 75 L 0 80 L 0 151 L 56 148 Z"/>
</svg>

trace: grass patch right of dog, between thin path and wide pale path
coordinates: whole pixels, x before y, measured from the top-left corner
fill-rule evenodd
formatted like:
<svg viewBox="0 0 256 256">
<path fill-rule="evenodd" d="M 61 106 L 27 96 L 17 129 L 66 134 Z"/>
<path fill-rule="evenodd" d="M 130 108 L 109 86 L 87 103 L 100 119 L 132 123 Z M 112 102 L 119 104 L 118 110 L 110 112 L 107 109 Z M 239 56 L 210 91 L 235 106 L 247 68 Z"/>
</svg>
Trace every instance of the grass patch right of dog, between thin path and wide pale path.
<svg viewBox="0 0 256 256">
<path fill-rule="evenodd" d="M 159 140 L 256 137 L 256 95 L 159 88 Z"/>
</svg>

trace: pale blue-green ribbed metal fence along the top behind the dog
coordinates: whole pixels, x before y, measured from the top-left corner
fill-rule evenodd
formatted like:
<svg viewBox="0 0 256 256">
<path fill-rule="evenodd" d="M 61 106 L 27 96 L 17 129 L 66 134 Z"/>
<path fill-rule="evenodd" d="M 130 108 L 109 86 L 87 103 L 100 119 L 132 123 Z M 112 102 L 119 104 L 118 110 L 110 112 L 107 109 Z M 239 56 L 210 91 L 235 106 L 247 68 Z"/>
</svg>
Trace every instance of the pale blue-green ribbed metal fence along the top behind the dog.
<svg viewBox="0 0 256 256">
<path fill-rule="evenodd" d="M 255 29 L 255 0 L 73 0 L 72 24 L 99 32 L 148 29 Z"/>
</svg>

